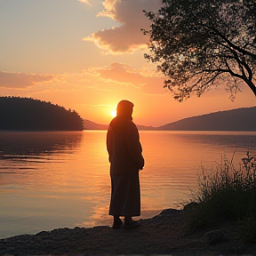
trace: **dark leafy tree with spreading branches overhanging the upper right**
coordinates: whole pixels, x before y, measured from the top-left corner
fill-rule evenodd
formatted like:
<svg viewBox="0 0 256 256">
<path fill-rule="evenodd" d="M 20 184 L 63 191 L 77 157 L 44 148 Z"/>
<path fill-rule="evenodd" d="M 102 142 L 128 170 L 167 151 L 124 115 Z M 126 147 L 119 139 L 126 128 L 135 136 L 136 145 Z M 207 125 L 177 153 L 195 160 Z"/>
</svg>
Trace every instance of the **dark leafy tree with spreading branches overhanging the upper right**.
<svg viewBox="0 0 256 256">
<path fill-rule="evenodd" d="M 169 76 L 164 87 L 175 99 L 225 83 L 234 100 L 242 82 L 256 96 L 255 0 L 165 0 L 145 15 L 152 22 L 142 29 L 150 36 L 145 58 Z"/>
</svg>

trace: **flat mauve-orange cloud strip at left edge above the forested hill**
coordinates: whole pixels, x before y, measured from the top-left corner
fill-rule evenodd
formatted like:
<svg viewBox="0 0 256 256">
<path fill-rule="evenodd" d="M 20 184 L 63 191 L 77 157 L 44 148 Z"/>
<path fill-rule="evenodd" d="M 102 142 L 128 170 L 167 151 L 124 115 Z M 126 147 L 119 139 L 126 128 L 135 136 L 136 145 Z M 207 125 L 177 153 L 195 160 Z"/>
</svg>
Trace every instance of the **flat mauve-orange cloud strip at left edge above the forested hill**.
<svg viewBox="0 0 256 256">
<path fill-rule="evenodd" d="M 42 82 L 52 81 L 51 75 L 21 74 L 8 73 L 0 71 L 0 87 L 22 89 L 39 84 Z"/>
</svg>

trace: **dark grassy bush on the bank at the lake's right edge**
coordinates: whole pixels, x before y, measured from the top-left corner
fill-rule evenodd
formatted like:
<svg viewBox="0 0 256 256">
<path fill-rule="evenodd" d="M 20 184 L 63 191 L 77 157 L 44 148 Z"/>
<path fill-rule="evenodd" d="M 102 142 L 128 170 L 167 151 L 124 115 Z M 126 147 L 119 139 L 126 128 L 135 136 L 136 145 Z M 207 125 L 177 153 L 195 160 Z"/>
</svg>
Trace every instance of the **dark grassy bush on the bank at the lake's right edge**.
<svg viewBox="0 0 256 256">
<path fill-rule="evenodd" d="M 198 177 L 198 191 L 189 195 L 190 201 L 197 203 L 186 211 L 189 228 L 213 226 L 221 221 L 240 221 L 244 227 L 255 230 L 255 172 L 256 158 L 249 152 L 238 170 L 226 157 L 208 174 L 203 168 Z M 249 222 L 253 225 L 248 225 Z"/>
</svg>

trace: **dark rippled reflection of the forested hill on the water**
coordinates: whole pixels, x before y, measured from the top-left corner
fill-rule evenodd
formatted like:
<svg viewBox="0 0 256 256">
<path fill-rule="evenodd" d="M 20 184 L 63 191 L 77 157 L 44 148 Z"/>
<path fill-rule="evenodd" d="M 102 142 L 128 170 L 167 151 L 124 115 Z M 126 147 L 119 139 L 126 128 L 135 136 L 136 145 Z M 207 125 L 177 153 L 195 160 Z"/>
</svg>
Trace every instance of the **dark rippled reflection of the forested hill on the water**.
<svg viewBox="0 0 256 256">
<path fill-rule="evenodd" d="M 33 170 L 52 154 L 72 154 L 82 132 L 0 132 L 0 172 Z M 30 163 L 30 164 L 29 164 Z"/>
</svg>

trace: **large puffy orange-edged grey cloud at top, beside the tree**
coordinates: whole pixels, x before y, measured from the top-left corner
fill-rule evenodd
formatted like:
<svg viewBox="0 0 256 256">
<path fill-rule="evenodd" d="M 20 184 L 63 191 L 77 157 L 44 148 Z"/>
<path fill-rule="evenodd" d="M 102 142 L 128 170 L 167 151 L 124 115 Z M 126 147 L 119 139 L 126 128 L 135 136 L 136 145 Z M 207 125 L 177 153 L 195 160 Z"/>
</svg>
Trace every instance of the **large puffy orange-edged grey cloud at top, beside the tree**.
<svg viewBox="0 0 256 256">
<path fill-rule="evenodd" d="M 140 29 L 148 29 L 150 22 L 143 10 L 156 12 L 161 4 L 161 0 L 105 0 L 105 10 L 98 16 L 116 20 L 119 26 L 95 32 L 84 37 L 84 41 L 92 41 L 101 50 L 112 54 L 133 52 L 147 47 L 148 36 L 143 35 Z"/>
</svg>

